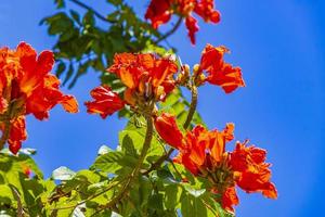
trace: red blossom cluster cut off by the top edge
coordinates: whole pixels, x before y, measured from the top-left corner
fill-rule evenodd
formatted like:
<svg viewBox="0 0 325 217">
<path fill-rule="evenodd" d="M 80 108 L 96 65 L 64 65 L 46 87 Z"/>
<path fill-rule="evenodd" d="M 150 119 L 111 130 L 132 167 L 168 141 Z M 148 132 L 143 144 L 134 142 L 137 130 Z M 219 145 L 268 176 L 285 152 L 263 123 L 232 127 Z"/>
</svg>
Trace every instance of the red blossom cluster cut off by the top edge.
<svg viewBox="0 0 325 217">
<path fill-rule="evenodd" d="M 195 34 L 199 27 L 193 13 L 200 16 L 206 23 L 219 23 L 220 13 L 214 9 L 213 0 L 152 0 L 145 18 L 151 20 L 154 28 L 170 21 L 172 14 L 185 18 L 191 42 L 195 43 Z"/>
</svg>

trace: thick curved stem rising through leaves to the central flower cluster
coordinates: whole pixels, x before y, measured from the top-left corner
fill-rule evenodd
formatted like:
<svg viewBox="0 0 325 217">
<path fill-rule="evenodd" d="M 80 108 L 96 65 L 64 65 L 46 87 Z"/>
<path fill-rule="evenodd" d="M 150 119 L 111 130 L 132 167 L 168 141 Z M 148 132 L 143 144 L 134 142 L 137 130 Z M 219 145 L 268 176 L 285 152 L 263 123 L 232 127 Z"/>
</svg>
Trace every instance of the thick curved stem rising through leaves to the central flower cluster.
<svg viewBox="0 0 325 217">
<path fill-rule="evenodd" d="M 106 208 L 113 207 L 128 193 L 129 187 L 130 187 L 131 182 L 134 180 L 134 178 L 138 176 L 140 168 L 145 159 L 146 153 L 152 143 L 154 125 L 153 125 L 153 118 L 151 117 L 151 115 L 147 115 L 147 117 L 146 117 L 146 125 L 147 125 L 147 128 L 146 128 L 145 140 L 144 140 L 144 143 L 142 146 L 142 151 L 141 151 L 138 164 L 136 164 L 135 168 L 133 169 L 133 171 L 131 173 L 131 175 L 129 176 L 127 183 L 122 187 L 121 191 L 114 199 L 112 199 L 106 205 L 102 206 L 102 208 L 99 212 L 94 213 L 92 216 L 95 216 L 96 214 L 99 214 L 100 212 L 102 212 Z"/>
</svg>

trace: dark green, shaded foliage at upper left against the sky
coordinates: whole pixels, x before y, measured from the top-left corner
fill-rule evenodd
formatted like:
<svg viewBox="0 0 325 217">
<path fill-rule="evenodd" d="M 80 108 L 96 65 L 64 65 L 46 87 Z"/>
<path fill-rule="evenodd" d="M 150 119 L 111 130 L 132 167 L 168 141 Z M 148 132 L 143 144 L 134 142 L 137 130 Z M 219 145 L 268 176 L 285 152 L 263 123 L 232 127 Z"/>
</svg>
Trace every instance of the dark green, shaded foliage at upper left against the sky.
<svg viewBox="0 0 325 217">
<path fill-rule="evenodd" d="M 84 8 L 79 1 L 72 2 Z M 65 7 L 62 0 L 55 0 L 55 3 L 58 9 Z M 107 3 L 107 11 L 110 10 L 107 15 L 100 15 L 89 7 L 84 8 L 83 14 L 64 9 L 40 23 L 48 26 L 49 35 L 57 38 L 53 48 L 58 63 L 56 75 L 65 75 L 64 85 L 69 81 L 69 88 L 90 68 L 101 72 L 103 82 L 112 85 L 113 77 L 104 74 L 115 53 L 140 52 L 148 44 L 154 49 L 154 39 L 161 37 L 123 1 L 109 0 Z"/>
</svg>

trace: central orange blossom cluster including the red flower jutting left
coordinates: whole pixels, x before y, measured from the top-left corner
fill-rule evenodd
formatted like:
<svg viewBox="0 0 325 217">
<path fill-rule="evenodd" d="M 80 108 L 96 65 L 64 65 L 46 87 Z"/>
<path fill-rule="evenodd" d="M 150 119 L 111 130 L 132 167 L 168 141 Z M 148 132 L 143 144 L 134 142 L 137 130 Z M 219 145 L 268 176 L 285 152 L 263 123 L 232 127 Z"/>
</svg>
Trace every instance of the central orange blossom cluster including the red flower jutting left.
<svg viewBox="0 0 325 217">
<path fill-rule="evenodd" d="M 164 101 L 176 87 L 173 75 L 178 65 L 170 59 L 151 53 L 120 53 L 115 54 L 107 72 L 116 74 L 126 90 L 122 99 L 107 86 L 91 91 L 94 101 L 86 102 L 88 112 L 100 114 L 103 118 L 121 110 L 125 104 L 145 106 L 148 101 Z"/>
</svg>

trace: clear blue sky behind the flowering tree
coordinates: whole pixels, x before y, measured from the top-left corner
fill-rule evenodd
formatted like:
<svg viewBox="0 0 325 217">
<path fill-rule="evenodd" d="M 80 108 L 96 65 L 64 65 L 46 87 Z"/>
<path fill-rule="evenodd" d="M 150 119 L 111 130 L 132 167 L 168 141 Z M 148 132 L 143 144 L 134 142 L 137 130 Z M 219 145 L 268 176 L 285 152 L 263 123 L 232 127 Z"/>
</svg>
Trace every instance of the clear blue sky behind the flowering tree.
<svg viewBox="0 0 325 217">
<path fill-rule="evenodd" d="M 94 7 L 105 12 L 104 2 Z M 325 2 L 216 3 L 222 22 L 217 26 L 200 23 L 196 47 L 190 44 L 184 27 L 169 42 L 177 44 L 182 61 L 190 64 L 198 62 L 205 43 L 224 44 L 232 50 L 226 60 L 243 68 L 246 88 L 225 95 L 219 88 L 204 87 L 198 105 L 210 128 L 234 122 L 237 139 L 249 138 L 269 151 L 280 197 L 271 201 L 240 192 L 237 216 L 321 216 L 325 205 Z M 143 14 L 147 1 L 134 0 L 132 4 Z M 52 1 L 2 0 L 0 11 L 0 46 L 14 48 L 27 41 L 38 51 L 51 49 L 55 39 L 38 24 L 55 12 Z M 115 116 L 102 120 L 87 115 L 82 106 L 89 90 L 99 85 L 98 77 L 89 72 L 74 89 L 64 88 L 80 102 L 79 114 L 66 114 L 57 106 L 48 122 L 28 118 L 29 136 L 24 146 L 39 151 L 36 161 L 46 175 L 62 165 L 86 168 L 101 144 L 116 146 L 117 132 L 125 122 Z"/>
</svg>

